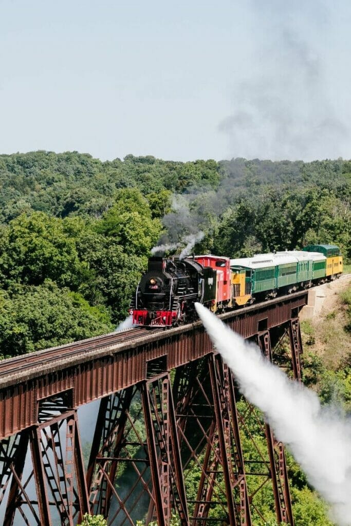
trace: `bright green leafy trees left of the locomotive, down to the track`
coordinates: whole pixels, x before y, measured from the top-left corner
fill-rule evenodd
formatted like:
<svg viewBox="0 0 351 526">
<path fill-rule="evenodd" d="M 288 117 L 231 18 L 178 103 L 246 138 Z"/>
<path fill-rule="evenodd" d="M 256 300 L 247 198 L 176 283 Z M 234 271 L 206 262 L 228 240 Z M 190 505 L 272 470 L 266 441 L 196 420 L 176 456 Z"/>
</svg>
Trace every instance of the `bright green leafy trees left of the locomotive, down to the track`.
<svg viewBox="0 0 351 526">
<path fill-rule="evenodd" d="M 0 353 L 13 356 L 113 330 L 161 230 L 122 189 L 99 220 L 21 215 L 0 227 Z"/>
</svg>

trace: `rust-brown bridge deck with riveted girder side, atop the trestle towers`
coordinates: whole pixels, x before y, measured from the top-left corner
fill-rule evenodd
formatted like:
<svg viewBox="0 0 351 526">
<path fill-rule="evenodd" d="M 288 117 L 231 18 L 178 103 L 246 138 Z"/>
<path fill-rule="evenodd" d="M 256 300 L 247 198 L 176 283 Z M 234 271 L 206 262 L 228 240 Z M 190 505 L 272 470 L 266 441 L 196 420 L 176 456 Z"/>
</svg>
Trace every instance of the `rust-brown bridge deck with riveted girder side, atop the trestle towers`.
<svg viewBox="0 0 351 526">
<path fill-rule="evenodd" d="M 243 338 L 283 325 L 307 304 L 307 291 L 226 312 Z M 0 440 L 37 423 L 38 403 L 69 391 L 72 409 L 212 351 L 201 322 L 168 330 L 132 329 L 0 362 Z M 156 364 L 156 368 L 153 366 Z"/>
</svg>

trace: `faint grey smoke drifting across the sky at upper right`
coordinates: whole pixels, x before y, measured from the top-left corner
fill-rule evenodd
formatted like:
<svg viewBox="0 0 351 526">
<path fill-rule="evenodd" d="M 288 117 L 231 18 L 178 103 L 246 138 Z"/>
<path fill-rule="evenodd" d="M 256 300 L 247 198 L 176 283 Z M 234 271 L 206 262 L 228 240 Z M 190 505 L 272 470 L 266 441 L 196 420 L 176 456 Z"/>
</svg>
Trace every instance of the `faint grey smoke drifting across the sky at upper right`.
<svg viewBox="0 0 351 526">
<path fill-rule="evenodd" d="M 335 58 L 329 55 L 340 31 L 334 4 L 251 0 L 248 6 L 251 69 L 246 78 L 238 72 L 233 112 L 219 124 L 229 138 L 230 155 L 305 161 L 348 157 L 349 119 L 337 96 L 344 87 L 335 81 Z M 339 17 L 348 9 L 346 3 L 338 8 Z"/>
</svg>

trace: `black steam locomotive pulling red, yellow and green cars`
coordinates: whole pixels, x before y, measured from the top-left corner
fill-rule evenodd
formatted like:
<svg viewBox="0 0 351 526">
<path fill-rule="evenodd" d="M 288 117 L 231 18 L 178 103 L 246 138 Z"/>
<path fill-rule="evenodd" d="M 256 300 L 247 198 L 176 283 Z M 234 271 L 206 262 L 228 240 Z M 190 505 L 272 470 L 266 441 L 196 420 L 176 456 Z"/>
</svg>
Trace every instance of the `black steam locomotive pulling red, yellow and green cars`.
<svg viewBox="0 0 351 526">
<path fill-rule="evenodd" d="M 225 312 L 340 277 L 336 245 L 308 245 L 253 257 L 151 257 L 131 302 L 134 326 L 175 327 L 196 319 L 195 303 Z"/>
</svg>

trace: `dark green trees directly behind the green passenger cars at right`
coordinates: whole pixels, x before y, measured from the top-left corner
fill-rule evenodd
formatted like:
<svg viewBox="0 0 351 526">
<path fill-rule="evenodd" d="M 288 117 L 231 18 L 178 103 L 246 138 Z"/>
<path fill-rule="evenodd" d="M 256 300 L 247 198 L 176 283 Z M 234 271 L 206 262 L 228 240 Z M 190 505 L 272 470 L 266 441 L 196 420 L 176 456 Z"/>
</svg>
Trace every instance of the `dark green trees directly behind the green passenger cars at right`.
<svg viewBox="0 0 351 526">
<path fill-rule="evenodd" d="M 214 251 L 230 257 L 293 250 L 333 242 L 351 257 L 351 209 L 326 189 L 266 189 L 230 207 L 219 224 Z"/>
</svg>

